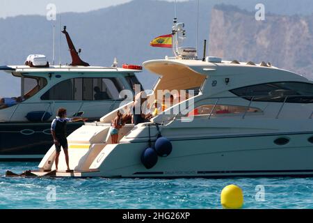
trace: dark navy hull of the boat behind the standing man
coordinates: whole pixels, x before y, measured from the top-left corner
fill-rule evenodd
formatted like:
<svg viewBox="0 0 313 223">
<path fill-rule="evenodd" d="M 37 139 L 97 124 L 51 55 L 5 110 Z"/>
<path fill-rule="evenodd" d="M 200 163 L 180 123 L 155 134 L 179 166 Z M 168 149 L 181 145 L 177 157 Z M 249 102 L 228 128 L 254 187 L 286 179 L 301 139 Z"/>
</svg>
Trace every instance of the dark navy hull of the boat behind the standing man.
<svg viewBox="0 0 313 223">
<path fill-rule="evenodd" d="M 71 134 L 83 123 L 67 123 Z M 51 123 L 0 123 L 0 161 L 40 161 L 52 144 Z"/>
</svg>

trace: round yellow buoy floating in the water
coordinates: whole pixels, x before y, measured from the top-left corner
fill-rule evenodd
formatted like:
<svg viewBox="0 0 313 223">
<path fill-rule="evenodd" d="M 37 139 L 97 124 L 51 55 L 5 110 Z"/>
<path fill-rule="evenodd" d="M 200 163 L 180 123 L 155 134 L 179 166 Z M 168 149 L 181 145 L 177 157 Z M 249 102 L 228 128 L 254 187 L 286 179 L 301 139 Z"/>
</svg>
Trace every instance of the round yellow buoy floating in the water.
<svg viewBox="0 0 313 223">
<path fill-rule="evenodd" d="M 237 185 L 227 185 L 220 193 L 220 203 L 224 208 L 238 209 L 243 206 L 243 192 Z"/>
</svg>

